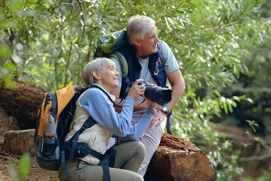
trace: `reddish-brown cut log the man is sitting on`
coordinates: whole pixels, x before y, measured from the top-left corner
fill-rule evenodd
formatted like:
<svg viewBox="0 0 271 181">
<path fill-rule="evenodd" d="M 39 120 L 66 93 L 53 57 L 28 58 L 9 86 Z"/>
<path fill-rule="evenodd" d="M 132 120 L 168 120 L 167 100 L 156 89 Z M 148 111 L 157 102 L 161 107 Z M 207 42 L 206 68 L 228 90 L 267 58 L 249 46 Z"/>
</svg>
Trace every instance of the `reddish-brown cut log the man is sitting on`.
<svg viewBox="0 0 271 181">
<path fill-rule="evenodd" d="M 151 181 L 213 181 L 217 176 L 208 157 L 195 144 L 164 134 L 145 178 Z"/>
</svg>

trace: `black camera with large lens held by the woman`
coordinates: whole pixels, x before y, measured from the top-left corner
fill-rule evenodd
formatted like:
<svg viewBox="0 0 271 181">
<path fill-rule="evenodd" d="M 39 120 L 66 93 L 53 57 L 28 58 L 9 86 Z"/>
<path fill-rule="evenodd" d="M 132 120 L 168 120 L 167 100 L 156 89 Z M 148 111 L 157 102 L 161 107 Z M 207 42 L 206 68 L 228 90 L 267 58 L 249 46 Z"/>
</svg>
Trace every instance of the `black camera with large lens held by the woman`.
<svg viewBox="0 0 271 181">
<path fill-rule="evenodd" d="M 146 81 L 139 82 L 138 85 L 144 85 L 146 87 L 144 95 L 161 106 L 165 106 L 171 101 L 171 89 L 149 85 Z"/>
</svg>

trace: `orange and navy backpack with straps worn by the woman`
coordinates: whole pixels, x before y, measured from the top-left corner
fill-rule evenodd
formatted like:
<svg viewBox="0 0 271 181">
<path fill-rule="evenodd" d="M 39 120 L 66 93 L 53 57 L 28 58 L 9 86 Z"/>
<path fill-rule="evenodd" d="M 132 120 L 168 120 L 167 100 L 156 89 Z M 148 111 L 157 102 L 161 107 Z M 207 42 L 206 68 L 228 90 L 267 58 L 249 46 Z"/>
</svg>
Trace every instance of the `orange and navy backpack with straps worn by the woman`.
<svg viewBox="0 0 271 181">
<path fill-rule="evenodd" d="M 76 101 L 79 96 L 89 88 L 98 88 L 104 92 L 100 87 L 91 85 L 86 88 L 80 88 L 79 90 L 75 90 L 70 86 L 57 90 L 56 93 L 45 93 L 38 109 L 35 135 L 32 135 L 36 144 L 36 160 L 39 167 L 45 170 L 58 171 L 61 165 L 63 177 L 67 178 L 65 158 L 73 160 L 73 158 L 85 157 L 90 154 L 101 160 L 104 171 L 104 181 L 110 181 L 108 167 L 114 167 L 116 150 L 113 147 L 110 149 L 113 157 L 109 160 L 108 164 L 103 154 L 92 150 L 86 143 L 78 142 L 79 135 L 85 129 L 92 127 L 96 123 L 91 116 L 84 122 L 82 128 L 79 129 L 69 141 L 65 142 L 65 137 L 73 121 Z M 114 106 L 118 106 L 108 94 L 106 95 Z"/>
</svg>

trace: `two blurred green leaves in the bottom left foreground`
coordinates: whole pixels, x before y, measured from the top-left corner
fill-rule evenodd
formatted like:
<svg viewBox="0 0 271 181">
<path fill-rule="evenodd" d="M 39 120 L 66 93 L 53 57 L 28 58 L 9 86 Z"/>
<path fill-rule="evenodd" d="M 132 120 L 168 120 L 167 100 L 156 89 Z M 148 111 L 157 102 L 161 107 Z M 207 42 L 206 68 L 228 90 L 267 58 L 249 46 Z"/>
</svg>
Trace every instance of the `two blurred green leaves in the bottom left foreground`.
<svg viewBox="0 0 271 181">
<path fill-rule="evenodd" d="M 30 159 L 30 154 L 29 153 L 25 153 L 22 155 L 22 157 L 20 157 L 19 160 L 19 176 L 17 175 L 17 172 L 15 170 L 15 166 L 14 166 L 14 162 L 12 162 L 11 160 L 8 163 L 8 173 L 11 177 L 12 180 L 19 180 L 19 181 L 23 181 L 24 177 L 27 176 L 27 174 L 30 171 L 30 163 L 31 163 L 31 159 Z"/>
</svg>

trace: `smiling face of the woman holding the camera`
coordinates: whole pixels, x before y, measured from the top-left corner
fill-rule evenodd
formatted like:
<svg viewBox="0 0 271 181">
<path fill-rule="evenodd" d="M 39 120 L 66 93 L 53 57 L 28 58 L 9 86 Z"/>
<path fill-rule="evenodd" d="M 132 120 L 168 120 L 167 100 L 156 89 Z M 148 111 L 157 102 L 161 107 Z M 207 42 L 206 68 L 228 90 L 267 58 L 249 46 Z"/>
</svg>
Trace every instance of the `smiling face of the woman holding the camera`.
<svg viewBox="0 0 271 181">
<path fill-rule="evenodd" d="M 114 67 L 103 68 L 102 71 L 100 72 L 100 75 L 101 75 L 101 79 L 98 82 L 108 92 L 111 89 L 119 87 L 119 83 L 118 83 L 119 73 L 116 71 Z"/>
</svg>

